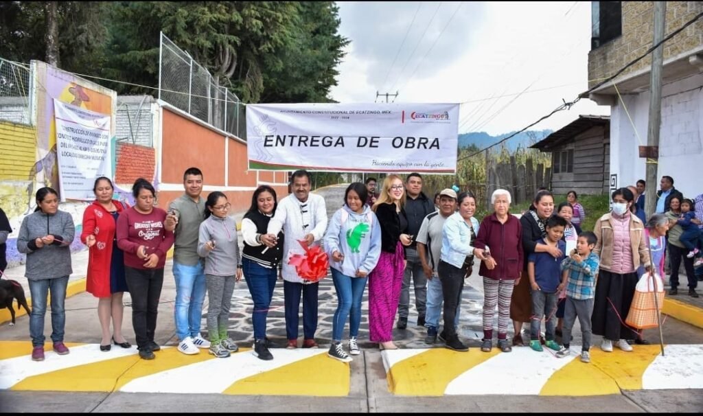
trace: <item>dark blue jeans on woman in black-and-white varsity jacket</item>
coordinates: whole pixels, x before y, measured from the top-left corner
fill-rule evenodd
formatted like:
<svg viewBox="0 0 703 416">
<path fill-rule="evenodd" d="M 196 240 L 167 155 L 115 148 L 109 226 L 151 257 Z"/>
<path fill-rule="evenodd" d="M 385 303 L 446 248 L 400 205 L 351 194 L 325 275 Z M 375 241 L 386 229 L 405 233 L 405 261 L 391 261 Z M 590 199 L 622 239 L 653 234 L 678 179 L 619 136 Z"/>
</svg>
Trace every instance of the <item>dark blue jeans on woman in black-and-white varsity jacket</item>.
<svg viewBox="0 0 703 416">
<path fill-rule="evenodd" d="M 250 259 L 242 259 L 242 272 L 254 301 L 252 313 L 254 339 L 264 339 L 266 338 L 266 317 L 269 316 L 273 289 L 276 287 L 277 269 L 266 268 Z"/>
</svg>

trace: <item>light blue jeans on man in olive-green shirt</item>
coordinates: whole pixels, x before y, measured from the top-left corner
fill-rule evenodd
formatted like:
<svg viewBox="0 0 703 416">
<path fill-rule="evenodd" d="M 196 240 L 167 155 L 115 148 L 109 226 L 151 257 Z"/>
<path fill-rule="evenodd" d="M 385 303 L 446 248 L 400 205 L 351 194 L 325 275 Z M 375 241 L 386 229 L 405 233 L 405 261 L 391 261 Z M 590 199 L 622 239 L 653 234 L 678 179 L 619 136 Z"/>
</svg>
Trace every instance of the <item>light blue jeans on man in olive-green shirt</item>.
<svg viewBox="0 0 703 416">
<path fill-rule="evenodd" d="M 179 340 L 200 335 L 202 302 L 205 301 L 207 284 L 202 261 L 195 266 L 187 266 L 174 261 L 176 279 L 176 335 Z"/>
</svg>

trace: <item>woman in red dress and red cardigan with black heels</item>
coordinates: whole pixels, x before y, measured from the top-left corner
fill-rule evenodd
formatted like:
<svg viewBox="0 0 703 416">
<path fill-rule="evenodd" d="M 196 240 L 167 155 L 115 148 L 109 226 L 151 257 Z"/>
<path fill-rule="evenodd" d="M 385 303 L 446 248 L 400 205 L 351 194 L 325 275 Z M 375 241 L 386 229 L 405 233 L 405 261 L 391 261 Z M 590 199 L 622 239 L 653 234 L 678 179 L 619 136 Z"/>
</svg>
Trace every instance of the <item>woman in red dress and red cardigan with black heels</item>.
<svg viewBox="0 0 703 416">
<path fill-rule="evenodd" d="M 83 213 L 81 241 L 89 247 L 86 291 L 97 297 L 98 318 L 103 330 L 101 351 L 110 351 L 112 342 L 122 348 L 131 345 L 122 336 L 122 294 L 129 292 L 124 280 L 124 259 L 117 248 L 115 224 L 120 213 L 127 208 L 122 202 L 112 200 L 115 188 L 112 181 L 101 176 L 95 181 L 95 201 Z M 112 334 L 110 334 L 112 320 Z"/>
</svg>

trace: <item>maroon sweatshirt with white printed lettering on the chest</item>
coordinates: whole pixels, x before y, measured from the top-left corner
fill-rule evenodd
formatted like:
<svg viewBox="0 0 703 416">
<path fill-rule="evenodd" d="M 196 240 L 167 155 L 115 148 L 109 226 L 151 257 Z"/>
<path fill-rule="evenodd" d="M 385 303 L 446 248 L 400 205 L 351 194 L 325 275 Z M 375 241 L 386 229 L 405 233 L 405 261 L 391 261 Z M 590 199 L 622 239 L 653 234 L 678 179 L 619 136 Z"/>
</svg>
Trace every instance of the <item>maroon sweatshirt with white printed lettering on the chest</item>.
<svg viewBox="0 0 703 416">
<path fill-rule="evenodd" d="M 124 266 L 131 268 L 144 267 L 146 260 L 136 255 L 139 246 L 146 247 L 146 254 L 155 253 L 159 263 L 155 268 L 163 268 L 166 264 L 166 253 L 174 244 L 173 231 L 164 229 L 166 212 L 154 208 L 149 214 L 142 214 L 134 207 L 126 209 L 117 218 L 117 247 L 124 252 Z"/>
</svg>

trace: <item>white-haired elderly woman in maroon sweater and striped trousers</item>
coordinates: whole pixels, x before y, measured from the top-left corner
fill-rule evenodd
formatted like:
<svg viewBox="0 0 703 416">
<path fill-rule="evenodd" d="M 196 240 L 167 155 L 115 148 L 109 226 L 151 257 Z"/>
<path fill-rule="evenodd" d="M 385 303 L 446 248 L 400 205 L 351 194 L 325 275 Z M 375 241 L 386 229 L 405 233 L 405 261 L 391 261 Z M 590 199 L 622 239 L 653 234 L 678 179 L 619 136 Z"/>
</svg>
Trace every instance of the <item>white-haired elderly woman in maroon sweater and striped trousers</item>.
<svg viewBox="0 0 703 416">
<path fill-rule="evenodd" d="M 479 227 L 474 243 L 474 254 L 482 260 L 479 275 L 483 276 L 484 338 L 481 351 L 493 348 L 493 320 L 498 304 L 498 348 L 504 353 L 512 351 L 508 342 L 510 325 L 510 298 L 512 289 L 520 282 L 522 271 L 522 225 L 512 216 L 510 193 L 497 189 L 491 195 L 493 214 L 486 216 Z"/>
</svg>

